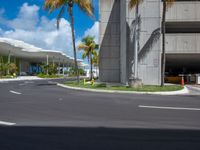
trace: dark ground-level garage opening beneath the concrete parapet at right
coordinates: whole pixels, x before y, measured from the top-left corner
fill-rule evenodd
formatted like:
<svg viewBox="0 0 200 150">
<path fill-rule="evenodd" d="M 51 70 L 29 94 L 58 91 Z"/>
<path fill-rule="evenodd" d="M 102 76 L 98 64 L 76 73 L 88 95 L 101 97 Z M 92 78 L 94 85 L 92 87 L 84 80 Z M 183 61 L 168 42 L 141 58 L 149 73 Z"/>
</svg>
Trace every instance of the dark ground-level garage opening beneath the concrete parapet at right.
<svg viewBox="0 0 200 150">
<path fill-rule="evenodd" d="M 185 83 L 195 84 L 200 75 L 200 54 L 166 54 L 167 83 L 181 83 L 184 75 Z"/>
</svg>

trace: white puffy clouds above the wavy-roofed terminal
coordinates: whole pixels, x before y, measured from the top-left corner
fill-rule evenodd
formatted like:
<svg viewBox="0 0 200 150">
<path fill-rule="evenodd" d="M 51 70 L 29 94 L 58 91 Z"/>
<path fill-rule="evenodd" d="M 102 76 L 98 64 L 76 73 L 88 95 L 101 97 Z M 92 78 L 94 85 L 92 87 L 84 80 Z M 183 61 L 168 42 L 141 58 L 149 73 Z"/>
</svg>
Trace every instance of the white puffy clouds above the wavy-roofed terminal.
<svg viewBox="0 0 200 150">
<path fill-rule="evenodd" d="M 70 23 L 62 18 L 60 29 L 57 30 L 56 19 L 50 20 L 45 16 L 40 17 L 39 9 L 37 5 L 24 3 L 15 19 L 2 19 L 4 24 L 10 27 L 11 30 L 3 31 L 0 29 L 0 35 L 22 40 L 43 49 L 60 50 L 67 55 L 73 56 Z M 3 10 L 0 12 L 4 13 Z M 90 29 L 87 29 L 84 33 L 85 35 L 95 36 L 95 41 L 98 42 L 98 22 L 95 22 Z M 81 58 L 81 54 L 78 54 L 79 58 Z"/>
</svg>

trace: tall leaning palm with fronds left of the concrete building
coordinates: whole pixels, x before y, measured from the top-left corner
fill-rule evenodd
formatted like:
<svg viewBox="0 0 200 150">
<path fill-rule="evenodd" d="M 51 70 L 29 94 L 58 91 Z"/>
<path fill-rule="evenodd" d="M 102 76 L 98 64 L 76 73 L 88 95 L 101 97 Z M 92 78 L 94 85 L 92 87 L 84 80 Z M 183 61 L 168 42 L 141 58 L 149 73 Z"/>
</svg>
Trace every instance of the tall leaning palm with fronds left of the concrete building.
<svg viewBox="0 0 200 150">
<path fill-rule="evenodd" d="M 60 9 L 57 16 L 57 28 L 59 28 L 60 19 L 63 16 L 65 10 L 69 13 L 72 31 L 72 42 L 74 51 L 74 64 L 77 75 L 77 82 L 79 83 L 79 69 L 76 56 L 76 44 L 75 44 L 75 33 L 74 33 L 74 16 L 73 16 L 73 6 L 76 4 L 83 12 L 88 16 L 93 16 L 93 5 L 91 0 L 45 0 L 45 9 L 52 12 L 54 10 Z"/>
</svg>

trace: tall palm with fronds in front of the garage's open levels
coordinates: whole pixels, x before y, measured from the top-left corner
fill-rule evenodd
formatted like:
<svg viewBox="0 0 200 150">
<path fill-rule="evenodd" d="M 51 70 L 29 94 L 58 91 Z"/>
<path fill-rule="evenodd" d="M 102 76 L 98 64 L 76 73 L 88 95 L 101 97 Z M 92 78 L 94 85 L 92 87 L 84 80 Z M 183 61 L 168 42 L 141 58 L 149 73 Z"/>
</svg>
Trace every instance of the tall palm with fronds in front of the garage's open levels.
<svg viewBox="0 0 200 150">
<path fill-rule="evenodd" d="M 166 53 L 165 53 L 165 32 L 166 32 L 166 11 L 167 8 L 173 5 L 174 0 L 163 0 L 163 12 L 162 12 L 162 58 L 161 58 L 161 86 L 165 84 L 165 63 L 166 63 Z"/>
</svg>

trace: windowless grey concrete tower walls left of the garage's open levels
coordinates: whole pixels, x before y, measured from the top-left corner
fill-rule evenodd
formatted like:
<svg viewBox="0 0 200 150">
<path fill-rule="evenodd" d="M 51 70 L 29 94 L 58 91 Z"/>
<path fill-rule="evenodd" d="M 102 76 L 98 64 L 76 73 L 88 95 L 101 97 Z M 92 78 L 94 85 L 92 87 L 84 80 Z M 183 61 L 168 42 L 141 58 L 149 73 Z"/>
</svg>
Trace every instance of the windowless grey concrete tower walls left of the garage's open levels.
<svg viewBox="0 0 200 150">
<path fill-rule="evenodd" d="M 100 80 L 126 84 L 134 70 L 135 10 L 129 9 L 129 0 L 99 2 Z M 160 84 L 160 1 L 144 0 L 139 13 L 139 77 L 144 84 Z"/>
</svg>

